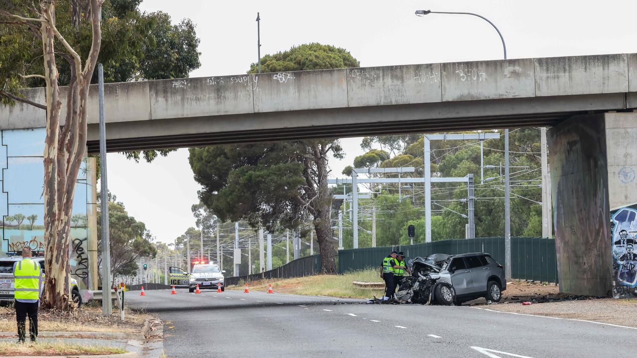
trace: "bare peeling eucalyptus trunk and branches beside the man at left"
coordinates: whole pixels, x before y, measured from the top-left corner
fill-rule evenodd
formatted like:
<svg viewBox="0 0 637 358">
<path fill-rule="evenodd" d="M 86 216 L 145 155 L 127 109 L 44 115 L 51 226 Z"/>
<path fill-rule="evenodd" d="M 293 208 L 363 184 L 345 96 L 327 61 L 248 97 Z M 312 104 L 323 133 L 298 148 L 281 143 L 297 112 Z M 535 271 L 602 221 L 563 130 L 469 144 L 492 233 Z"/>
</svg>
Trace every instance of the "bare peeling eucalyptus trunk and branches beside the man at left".
<svg viewBox="0 0 637 358">
<path fill-rule="evenodd" d="M 15 19 L 15 24 L 31 27 L 32 31 L 41 37 L 45 75 L 23 77 L 40 77 L 46 82 L 47 136 L 44 150 L 46 290 L 42 301 L 45 307 L 59 310 L 67 310 L 70 307 L 69 245 L 73 194 L 86 151 L 89 85 L 101 45 L 99 17 L 102 1 L 76 0 L 75 3 L 83 9 L 83 17 L 89 21 L 92 29 L 90 52 L 83 64 L 80 55 L 69 45 L 55 25 L 55 0 L 40 0 L 39 3 L 34 4 L 32 11 L 37 15 L 34 18 L 21 17 L 6 10 L 0 11 L 0 15 Z M 64 51 L 56 48 L 56 43 L 61 44 Z M 68 61 L 71 67 L 64 124 L 60 121 L 62 103 L 57 82 L 59 74 L 56 55 Z M 29 104 L 43 107 L 39 104 Z"/>
</svg>

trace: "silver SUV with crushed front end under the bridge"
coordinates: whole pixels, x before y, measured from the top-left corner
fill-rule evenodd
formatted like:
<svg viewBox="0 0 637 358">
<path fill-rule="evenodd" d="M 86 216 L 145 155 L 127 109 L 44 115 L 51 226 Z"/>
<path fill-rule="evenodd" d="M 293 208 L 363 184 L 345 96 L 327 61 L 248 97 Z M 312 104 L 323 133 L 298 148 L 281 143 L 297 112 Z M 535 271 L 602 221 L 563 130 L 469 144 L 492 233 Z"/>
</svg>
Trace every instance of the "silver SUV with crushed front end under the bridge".
<svg viewBox="0 0 637 358">
<path fill-rule="evenodd" d="M 505 270 L 489 254 L 416 257 L 409 262 L 412 276 L 403 279 L 398 301 L 462 304 L 478 297 L 499 302 L 506 290 Z"/>
</svg>

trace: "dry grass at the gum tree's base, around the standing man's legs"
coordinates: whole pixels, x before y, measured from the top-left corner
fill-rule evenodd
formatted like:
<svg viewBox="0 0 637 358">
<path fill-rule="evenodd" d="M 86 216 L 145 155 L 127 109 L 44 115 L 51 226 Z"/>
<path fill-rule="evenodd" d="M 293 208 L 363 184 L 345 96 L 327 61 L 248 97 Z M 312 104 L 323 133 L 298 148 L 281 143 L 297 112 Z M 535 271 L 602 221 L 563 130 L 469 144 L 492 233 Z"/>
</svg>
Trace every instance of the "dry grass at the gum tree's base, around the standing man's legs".
<svg viewBox="0 0 637 358">
<path fill-rule="evenodd" d="M 145 320 L 151 317 L 143 312 L 126 310 L 125 322 L 119 320 L 119 311 L 104 317 L 101 307 L 81 306 L 75 311 L 45 311 L 38 313 L 38 330 L 54 332 L 124 332 L 140 333 Z M 15 332 L 13 306 L 0 308 L 0 332 Z"/>
</svg>

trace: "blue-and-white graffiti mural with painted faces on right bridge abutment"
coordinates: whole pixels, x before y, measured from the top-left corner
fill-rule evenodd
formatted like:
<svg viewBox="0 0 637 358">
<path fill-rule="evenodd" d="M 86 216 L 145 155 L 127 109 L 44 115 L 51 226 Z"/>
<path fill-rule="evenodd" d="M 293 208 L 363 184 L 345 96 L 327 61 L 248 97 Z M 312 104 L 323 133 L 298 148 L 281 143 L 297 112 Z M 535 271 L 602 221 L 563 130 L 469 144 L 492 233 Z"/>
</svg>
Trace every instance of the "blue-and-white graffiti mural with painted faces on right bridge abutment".
<svg viewBox="0 0 637 358">
<path fill-rule="evenodd" d="M 611 212 L 613 297 L 637 297 L 637 204 Z"/>
</svg>

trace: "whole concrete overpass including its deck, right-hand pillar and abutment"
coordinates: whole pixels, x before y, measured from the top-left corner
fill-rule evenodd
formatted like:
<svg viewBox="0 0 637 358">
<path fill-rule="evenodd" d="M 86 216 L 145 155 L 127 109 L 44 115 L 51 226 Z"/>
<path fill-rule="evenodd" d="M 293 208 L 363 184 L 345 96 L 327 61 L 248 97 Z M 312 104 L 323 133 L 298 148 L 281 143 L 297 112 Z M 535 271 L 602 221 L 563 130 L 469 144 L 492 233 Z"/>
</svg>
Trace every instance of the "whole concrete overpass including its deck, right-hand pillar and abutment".
<svg viewBox="0 0 637 358">
<path fill-rule="evenodd" d="M 43 89 L 25 96 L 44 103 Z M 621 242 L 617 228 L 637 233 L 637 220 L 615 216 L 611 224 L 610 213 L 632 205 L 637 214 L 637 54 L 111 83 L 105 96 L 111 152 L 550 126 L 561 289 L 598 296 L 634 292 L 613 271 L 613 252 Z M 96 88 L 89 102 L 88 145 L 95 153 Z M 0 107 L 0 129 L 44 126 L 38 108 Z"/>
</svg>

